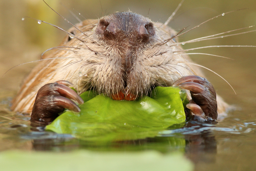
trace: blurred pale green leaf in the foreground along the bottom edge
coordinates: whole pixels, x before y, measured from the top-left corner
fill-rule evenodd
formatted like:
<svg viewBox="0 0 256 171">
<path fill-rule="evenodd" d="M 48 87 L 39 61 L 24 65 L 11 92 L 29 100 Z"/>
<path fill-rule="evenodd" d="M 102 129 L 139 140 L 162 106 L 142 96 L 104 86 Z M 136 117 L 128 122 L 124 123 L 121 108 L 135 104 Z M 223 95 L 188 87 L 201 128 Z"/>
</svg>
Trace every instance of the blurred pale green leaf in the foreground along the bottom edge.
<svg viewBox="0 0 256 171">
<path fill-rule="evenodd" d="M 72 151 L 65 153 L 40 151 L 0 152 L 1 170 L 19 171 L 149 171 L 193 170 L 193 164 L 182 152 L 161 154 L 143 152 Z"/>
</svg>

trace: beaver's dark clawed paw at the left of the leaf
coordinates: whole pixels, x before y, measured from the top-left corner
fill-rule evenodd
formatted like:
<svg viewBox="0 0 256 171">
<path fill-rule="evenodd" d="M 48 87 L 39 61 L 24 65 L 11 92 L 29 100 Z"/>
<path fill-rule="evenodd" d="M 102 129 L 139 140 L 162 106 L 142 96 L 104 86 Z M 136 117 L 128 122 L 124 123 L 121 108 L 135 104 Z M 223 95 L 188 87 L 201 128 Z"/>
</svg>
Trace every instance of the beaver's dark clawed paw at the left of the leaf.
<svg viewBox="0 0 256 171">
<path fill-rule="evenodd" d="M 55 83 L 45 84 L 38 90 L 35 104 L 32 109 L 31 121 L 39 121 L 49 124 L 63 112 L 65 108 L 79 112 L 78 104 L 83 103 L 83 99 L 71 88 L 67 86 L 74 85 L 69 81 L 57 81 Z"/>
</svg>

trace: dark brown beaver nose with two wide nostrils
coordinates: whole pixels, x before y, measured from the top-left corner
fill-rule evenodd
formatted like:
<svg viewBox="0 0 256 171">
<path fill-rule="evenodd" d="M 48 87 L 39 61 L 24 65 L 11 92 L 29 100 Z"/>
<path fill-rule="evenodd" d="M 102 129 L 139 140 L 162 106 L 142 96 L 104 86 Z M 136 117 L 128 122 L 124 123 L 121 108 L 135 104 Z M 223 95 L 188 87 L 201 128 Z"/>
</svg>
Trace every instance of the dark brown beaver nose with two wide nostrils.
<svg viewBox="0 0 256 171">
<path fill-rule="evenodd" d="M 155 35 L 153 23 L 132 12 L 117 12 L 100 19 L 96 32 L 106 40 L 146 43 Z"/>
</svg>

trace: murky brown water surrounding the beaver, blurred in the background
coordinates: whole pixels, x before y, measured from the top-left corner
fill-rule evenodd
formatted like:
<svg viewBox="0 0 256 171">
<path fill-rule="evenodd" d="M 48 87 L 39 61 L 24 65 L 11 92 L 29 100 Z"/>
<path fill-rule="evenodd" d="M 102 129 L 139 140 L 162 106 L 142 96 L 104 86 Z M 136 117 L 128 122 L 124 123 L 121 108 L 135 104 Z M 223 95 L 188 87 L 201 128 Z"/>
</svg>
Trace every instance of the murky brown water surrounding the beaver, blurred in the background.
<svg viewBox="0 0 256 171">
<path fill-rule="evenodd" d="M 50 11 L 48 8 L 45 8 L 45 10 L 49 11 L 39 15 L 35 12 L 37 10 L 32 10 L 32 7 L 34 7 L 32 4 L 25 2 L 22 2 L 22 5 L 15 5 L 14 2 L 1 3 L 13 7 L 11 10 L 15 11 L 12 13 L 13 15 L 10 16 L 5 12 L 7 9 L 2 9 L 3 17 L 0 16 L 1 22 L 4 23 L 1 27 L 1 37 L 5 38 L 1 40 L 0 46 L 0 74 L 2 76 L 8 69 L 15 65 L 39 59 L 40 54 L 45 49 L 58 45 L 61 40 L 57 39 L 59 37 L 60 39 L 62 38 L 62 36 L 60 36 L 62 33 L 57 32 L 55 28 L 51 28 L 50 26 L 44 28 L 44 24 L 38 25 L 35 24 L 34 21 L 29 23 L 29 19 L 25 21 L 20 20 L 27 15 L 45 20 L 44 17 L 39 16 L 47 17 L 47 13 Z M 36 5 L 38 8 L 44 8 L 44 3 L 38 3 L 39 4 Z M 56 5 L 58 3 L 55 1 L 52 3 L 54 9 L 62 10 L 62 14 L 65 14 L 65 10 L 61 9 L 61 5 Z M 179 1 L 165 2 L 165 4 L 158 5 L 155 5 L 153 1 L 147 1 L 148 8 L 146 7 L 145 9 L 144 4 L 141 5 L 139 2 L 129 2 L 129 4 L 124 2 L 122 5 L 116 2 L 115 4 L 110 4 L 110 6 L 108 6 L 107 2 L 101 1 L 101 3 L 103 8 L 107 9 L 107 13 L 109 11 L 114 12 L 115 10 L 127 11 L 128 8 L 130 8 L 131 11 L 147 16 L 150 8 L 149 17 L 154 21 L 161 19 L 160 22 L 164 22 L 174 11 Z M 134 5 L 131 6 L 131 4 Z M 89 18 L 95 18 L 95 14 L 101 16 L 101 8 L 90 12 L 89 10 L 91 9 L 87 9 L 87 7 L 92 8 L 92 5 L 84 5 L 83 2 L 75 5 L 77 8 L 80 6 L 86 8 L 78 9 L 79 12 L 86 11 L 86 14 L 93 14 Z M 254 6 L 256 6 L 256 2 L 250 0 L 246 0 L 242 2 L 242 4 L 239 1 L 227 1 L 226 4 L 223 4 L 222 1 L 209 1 L 204 2 L 204 4 L 201 4 L 201 2 L 186 1 L 180 9 L 181 12 L 176 14 L 177 17 L 175 16 L 169 25 L 173 26 L 175 29 L 187 26 L 193 27 L 211 17 L 222 13 L 225 14 L 223 17 L 211 20 L 211 23 L 202 25 L 192 30 L 190 33 L 187 33 L 185 36 L 179 37 L 179 41 L 186 41 L 254 25 L 256 21 L 256 10 L 252 8 Z M 97 5 L 97 7 L 99 7 L 99 5 Z M 143 7 L 143 9 L 139 10 L 138 8 L 140 7 Z M 251 9 L 227 14 L 228 11 L 247 7 Z M 28 13 L 26 13 L 27 9 L 30 9 Z M 72 9 L 72 7 L 70 9 Z M 93 10 L 95 10 L 95 8 L 93 8 Z M 153 14 L 159 15 L 156 16 Z M 53 13 L 51 15 L 56 17 Z M 66 14 L 66 16 L 67 15 L 69 14 Z M 50 19 L 46 19 L 45 21 L 48 22 L 49 20 Z M 74 20 L 74 22 L 76 21 Z M 56 24 L 57 21 L 50 21 L 50 23 Z M 19 29 L 14 28 L 14 25 L 20 26 Z M 65 29 L 70 27 L 61 22 L 60 25 Z M 55 32 L 57 32 L 57 34 Z M 184 47 L 188 49 L 206 45 L 255 45 L 255 36 L 255 33 L 252 32 L 245 35 L 224 37 L 195 44 L 186 43 Z M 26 44 L 25 47 L 24 44 Z M 217 57 L 191 55 L 193 60 L 197 63 L 214 70 L 224 77 L 236 91 L 235 94 L 225 81 L 215 74 L 205 71 L 207 78 L 213 83 L 217 93 L 221 95 L 226 102 L 234 105 L 236 108 L 236 110 L 229 111 L 228 115 L 222 121 L 218 122 L 218 124 L 189 125 L 189 127 L 177 129 L 172 127 L 170 130 L 161 132 L 159 136 L 155 138 L 118 142 L 105 146 L 97 146 L 83 142 L 69 135 L 58 135 L 50 132 L 33 132 L 30 130 L 29 116 L 17 114 L 9 110 L 10 100 L 17 92 L 24 75 L 35 65 L 26 64 L 7 72 L 0 81 L 0 151 L 20 149 L 25 151 L 72 152 L 78 149 L 86 149 L 90 151 L 117 152 L 154 150 L 163 154 L 182 152 L 182 155 L 186 156 L 194 163 L 194 170 L 255 170 L 256 58 L 254 56 L 256 48 L 216 47 L 197 52 L 212 53 L 234 59 L 227 60 Z"/>
</svg>

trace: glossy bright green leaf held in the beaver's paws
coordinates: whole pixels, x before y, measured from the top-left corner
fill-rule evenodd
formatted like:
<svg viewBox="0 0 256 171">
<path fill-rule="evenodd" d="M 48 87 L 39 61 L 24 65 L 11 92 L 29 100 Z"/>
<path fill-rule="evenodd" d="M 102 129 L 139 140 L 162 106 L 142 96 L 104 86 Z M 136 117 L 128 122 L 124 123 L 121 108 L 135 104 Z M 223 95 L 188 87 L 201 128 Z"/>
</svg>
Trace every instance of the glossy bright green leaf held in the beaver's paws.
<svg viewBox="0 0 256 171">
<path fill-rule="evenodd" d="M 81 94 L 81 112 L 66 111 L 47 130 L 95 143 L 155 137 L 161 130 L 185 121 L 180 89 L 156 87 L 151 98 L 117 101 L 104 95 Z"/>
</svg>

